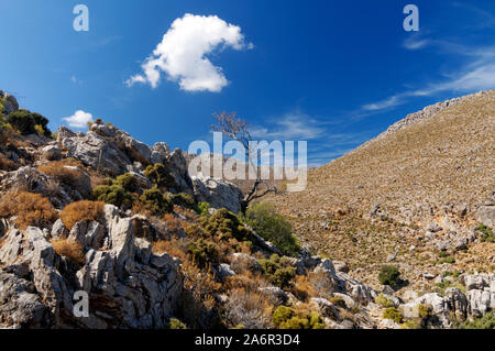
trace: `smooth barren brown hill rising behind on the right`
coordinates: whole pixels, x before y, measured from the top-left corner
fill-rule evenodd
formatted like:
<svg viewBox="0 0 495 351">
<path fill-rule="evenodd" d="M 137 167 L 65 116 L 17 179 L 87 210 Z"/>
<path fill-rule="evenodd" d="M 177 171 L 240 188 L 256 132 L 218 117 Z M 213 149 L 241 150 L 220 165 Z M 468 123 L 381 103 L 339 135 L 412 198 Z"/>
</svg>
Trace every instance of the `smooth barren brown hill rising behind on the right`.
<svg viewBox="0 0 495 351">
<path fill-rule="evenodd" d="M 494 128 L 495 90 L 439 102 L 310 172 L 306 191 L 271 200 L 304 241 L 367 283 L 396 252 L 411 281 L 424 270 L 493 271 L 495 244 L 473 237 L 493 221 Z M 454 249 L 464 241 L 469 251 Z"/>
</svg>

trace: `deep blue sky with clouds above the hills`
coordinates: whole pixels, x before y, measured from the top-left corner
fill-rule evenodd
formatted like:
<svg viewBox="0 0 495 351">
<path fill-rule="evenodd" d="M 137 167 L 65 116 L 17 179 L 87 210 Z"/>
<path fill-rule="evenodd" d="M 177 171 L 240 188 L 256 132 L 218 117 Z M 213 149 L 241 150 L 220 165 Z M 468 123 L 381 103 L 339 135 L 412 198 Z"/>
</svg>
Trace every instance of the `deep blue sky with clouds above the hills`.
<svg viewBox="0 0 495 351">
<path fill-rule="evenodd" d="M 73 29 L 78 3 L 88 32 Z M 427 105 L 495 88 L 494 1 L 377 3 L 2 0 L 0 89 L 53 130 L 84 111 L 184 150 L 234 111 L 256 139 L 307 140 L 321 165 Z M 407 3 L 418 32 L 403 29 Z"/>
</svg>

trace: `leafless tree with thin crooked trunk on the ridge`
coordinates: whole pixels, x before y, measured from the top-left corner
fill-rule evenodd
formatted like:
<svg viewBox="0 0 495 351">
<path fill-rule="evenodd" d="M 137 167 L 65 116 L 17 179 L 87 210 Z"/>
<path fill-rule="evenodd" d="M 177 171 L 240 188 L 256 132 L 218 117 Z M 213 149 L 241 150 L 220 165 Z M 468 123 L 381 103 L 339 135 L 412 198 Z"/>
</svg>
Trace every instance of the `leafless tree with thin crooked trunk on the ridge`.
<svg viewBox="0 0 495 351">
<path fill-rule="evenodd" d="M 224 136 L 241 143 L 248 155 L 250 167 L 253 167 L 256 172 L 256 179 L 248 194 L 244 195 L 241 202 L 241 211 L 245 212 L 252 200 L 261 198 L 270 193 L 276 193 L 277 188 L 275 186 L 271 186 L 266 180 L 262 179 L 258 165 L 255 165 L 253 162 L 253 152 L 257 152 L 257 150 L 251 149 L 250 142 L 252 141 L 252 138 L 248 122 L 241 118 L 238 118 L 235 112 L 220 112 L 215 113 L 213 117 L 217 123 L 211 125 L 211 129 L 215 132 L 221 132 Z"/>
</svg>

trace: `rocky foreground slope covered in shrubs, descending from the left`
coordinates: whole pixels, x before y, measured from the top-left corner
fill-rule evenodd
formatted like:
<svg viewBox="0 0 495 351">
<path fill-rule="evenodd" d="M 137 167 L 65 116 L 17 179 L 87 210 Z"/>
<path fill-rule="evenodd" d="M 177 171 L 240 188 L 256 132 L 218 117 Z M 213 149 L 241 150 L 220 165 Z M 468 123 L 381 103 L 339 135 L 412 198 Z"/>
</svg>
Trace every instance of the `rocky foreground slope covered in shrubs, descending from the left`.
<svg viewBox="0 0 495 351">
<path fill-rule="evenodd" d="M 371 287 L 352 260 L 342 262 L 352 255 L 312 254 L 272 207 L 239 213 L 242 190 L 190 176 L 180 150 L 148 146 L 101 120 L 86 133 L 52 133 L 47 122 L 0 90 L 0 328 L 451 328 L 493 319 L 494 274 L 451 272 L 441 294 L 399 298 L 388 286 L 406 283 L 396 272 Z"/>
</svg>

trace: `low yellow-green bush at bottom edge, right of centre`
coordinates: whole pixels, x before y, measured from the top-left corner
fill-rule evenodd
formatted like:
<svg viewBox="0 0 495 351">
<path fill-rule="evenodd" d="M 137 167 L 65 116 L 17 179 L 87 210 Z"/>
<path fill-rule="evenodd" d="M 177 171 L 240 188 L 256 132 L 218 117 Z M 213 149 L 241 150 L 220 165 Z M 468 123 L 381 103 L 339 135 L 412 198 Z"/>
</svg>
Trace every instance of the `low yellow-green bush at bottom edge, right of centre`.
<svg viewBox="0 0 495 351">
<path fill-rule="evenodd" d="M 272 318 L 278 329 L 322 329 L 324 322 L 318 312 L 295 311 L 286 306 L 275 308 Z"/>
</svg>

